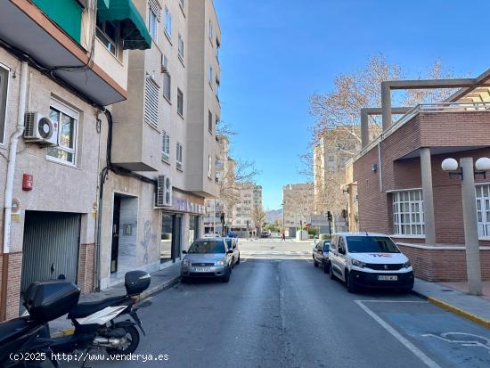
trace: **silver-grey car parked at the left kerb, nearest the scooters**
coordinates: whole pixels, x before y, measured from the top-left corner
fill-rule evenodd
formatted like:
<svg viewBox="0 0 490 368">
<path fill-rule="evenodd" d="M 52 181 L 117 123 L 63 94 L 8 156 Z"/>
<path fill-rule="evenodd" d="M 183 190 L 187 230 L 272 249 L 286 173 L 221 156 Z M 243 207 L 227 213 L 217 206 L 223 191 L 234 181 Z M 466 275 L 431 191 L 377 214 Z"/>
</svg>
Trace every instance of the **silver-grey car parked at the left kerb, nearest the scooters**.
<svg viewBox="0 0 490 368">
<path fill-rule="evenodd" d="M 196 277 L 220 278 L 230 281 L 233 267 L 233 248 L 229 248 L 223 238 L 205 238 L 192 242 L 188 250 L 183 250 L 181 281 Z"/>
</svg>

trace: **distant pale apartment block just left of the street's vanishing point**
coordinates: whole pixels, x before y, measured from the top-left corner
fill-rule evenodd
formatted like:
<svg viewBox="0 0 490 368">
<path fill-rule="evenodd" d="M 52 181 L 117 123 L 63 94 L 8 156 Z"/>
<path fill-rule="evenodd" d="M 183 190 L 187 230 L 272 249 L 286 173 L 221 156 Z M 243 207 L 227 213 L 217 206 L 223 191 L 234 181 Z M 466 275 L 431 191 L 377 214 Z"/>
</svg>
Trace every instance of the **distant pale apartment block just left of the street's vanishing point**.
<svg viewBox="0 0 490 368">
<path fill-rule="evenodd" d="M 254 183 L 236 185 L 236 204 L 230 219 L 232 230 L 239 236 L 253 236 L 257 233 L 257 216 L 254 211 L 262 209 L 262 186 Z"/>
</svg>

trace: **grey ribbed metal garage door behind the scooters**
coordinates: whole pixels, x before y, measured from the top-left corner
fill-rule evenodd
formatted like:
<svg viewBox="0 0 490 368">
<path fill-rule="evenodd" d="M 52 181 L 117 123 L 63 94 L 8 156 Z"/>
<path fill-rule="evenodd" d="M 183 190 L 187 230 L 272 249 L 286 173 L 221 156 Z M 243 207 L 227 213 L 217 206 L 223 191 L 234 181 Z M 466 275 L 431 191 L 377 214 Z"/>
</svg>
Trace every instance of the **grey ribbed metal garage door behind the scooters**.
<svg viewBox="0 0 490 368">
<path fill-rule="evenodd" d="M 79 234 L 80 214 L 26 211 L 21 291 L 59 274 L 77 282 Z"/>
</svg>

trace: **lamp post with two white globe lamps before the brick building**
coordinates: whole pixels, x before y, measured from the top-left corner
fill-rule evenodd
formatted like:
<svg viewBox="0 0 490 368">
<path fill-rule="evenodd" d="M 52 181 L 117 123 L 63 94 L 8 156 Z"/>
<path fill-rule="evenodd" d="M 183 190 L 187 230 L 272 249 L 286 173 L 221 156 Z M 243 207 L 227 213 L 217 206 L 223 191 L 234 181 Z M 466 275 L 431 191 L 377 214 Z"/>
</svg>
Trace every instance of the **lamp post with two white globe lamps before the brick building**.
<svg viewBox="0 0 490 368">
<path fill-rule="evenodd" d="M 475 170 L 473 158 L 465 157 L 458 161 L 445 159 L 442 169 L 450 176 L 461 177 L 462 216 L 464 224 L 464 242 L 466 249 L 466 273 L 468 275 L 468 291 L 471 295 L 482 295 L 480 253 L 478 244 L 477 197 L 475 192 L 475 175 L 486 176 L 490 170 L 490 159 L 477 159 Z"/>
</svg>

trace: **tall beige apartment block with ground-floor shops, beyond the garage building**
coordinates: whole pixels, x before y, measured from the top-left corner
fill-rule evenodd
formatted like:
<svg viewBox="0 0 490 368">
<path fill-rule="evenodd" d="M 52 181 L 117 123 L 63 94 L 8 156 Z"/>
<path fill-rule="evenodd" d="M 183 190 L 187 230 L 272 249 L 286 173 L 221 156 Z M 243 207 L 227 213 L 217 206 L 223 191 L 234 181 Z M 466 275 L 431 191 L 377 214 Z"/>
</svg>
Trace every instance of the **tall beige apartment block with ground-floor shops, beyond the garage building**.
<svg viewBox="0 0 490 368">
<path fill-rule="evenodd" d="M 108 176 L 103 192 L 102 289 L 135 267 L 151 272 L 179 260 L 204 232 L 205 198 L 218 195 L 220 31 L 213 3 L 134 4 L 151 49 L 129 53 L 127 101 L 112 108 L 118 175 Z M 157 205 L 159 178 L 171 189 Z"/>
</svg>

